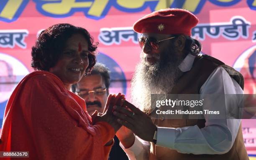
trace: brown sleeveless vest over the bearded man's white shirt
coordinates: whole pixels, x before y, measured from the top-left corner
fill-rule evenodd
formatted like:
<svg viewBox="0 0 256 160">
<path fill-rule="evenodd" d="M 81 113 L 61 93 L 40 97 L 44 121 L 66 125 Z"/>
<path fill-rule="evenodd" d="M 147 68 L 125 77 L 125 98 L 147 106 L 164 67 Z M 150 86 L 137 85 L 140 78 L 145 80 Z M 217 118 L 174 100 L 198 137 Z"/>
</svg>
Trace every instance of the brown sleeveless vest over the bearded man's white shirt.
<svg viewBox="0 0 256 160">
<path fill-rule="evenodd" d="M 243 76 L 239 72 L 225 65 L 218 59 L 205 55 L 195 58 L 192 69 L 185 72 L 179 78 L 170 94 L 199 94 L 201 86 L 218 66 L 222 66 L 243 89 Z M 164 119 L 164 117 L 158 117 L 157 119 L 152 119 L 152 121 L 158 127 L 178 128 L 194 125 L 197 125 L 199 128 L 205 127 L 205 119 Z M 149 160 L 249 160 L 249 158 L 244 146 L 240 125 L 232 148 L 223 155 L 182 154 L 176 150 L 156 146 L 151 142 Z"/>
</svg>

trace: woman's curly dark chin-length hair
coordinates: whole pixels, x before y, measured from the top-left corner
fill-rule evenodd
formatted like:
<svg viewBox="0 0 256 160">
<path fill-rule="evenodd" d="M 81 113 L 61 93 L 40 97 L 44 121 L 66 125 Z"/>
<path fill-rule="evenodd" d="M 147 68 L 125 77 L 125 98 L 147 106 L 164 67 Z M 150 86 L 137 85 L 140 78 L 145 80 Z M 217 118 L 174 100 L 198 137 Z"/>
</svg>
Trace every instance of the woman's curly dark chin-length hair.
<svg viewBox="0 0 256 160">
<path fill-rule="evenodd" d="M 31 67 L 34 70 L 49 71 L 58 62 L 68 38 L 76 33 L 84 36 L 88 42 L 89 66 L 86 69 L 86 73 L 90 73 L 96 63 L 95 55 L 98 43 L 94 43 L 93 38 L 86 29 L 68 23 L 52 25 L 40 33 L 35 46 L 32 47 Z"/>
</svg>

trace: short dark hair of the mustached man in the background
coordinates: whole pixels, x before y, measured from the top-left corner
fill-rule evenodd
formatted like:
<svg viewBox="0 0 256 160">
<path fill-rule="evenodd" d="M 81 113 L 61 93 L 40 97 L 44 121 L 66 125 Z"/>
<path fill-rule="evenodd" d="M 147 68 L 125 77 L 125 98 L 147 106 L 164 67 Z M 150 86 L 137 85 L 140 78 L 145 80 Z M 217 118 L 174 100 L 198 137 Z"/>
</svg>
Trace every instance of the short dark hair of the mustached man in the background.
<svg viewBox="0 0 256 160">
<path fill-rule="evenodd" d="M 91 76 L 91 75 L 95 75 L 95 74 L 99 74 L 100 76 L 102 76 L 102 78 L 105 81 L 105 86 L 107 88 L 107 94 L 109 94 L 108 89 L 110 86 L 110 70 L 108 69 L 108 67 L 106 67 L 102 63 L 96 63 L 95 66 L 93 67 L 91 73 L 88 74 L 87 76 Z M 73 92 L 76 91 L 76 87 L 77 87 L 77 84 L 72 84 L 71 89 Z"/>
</svg>

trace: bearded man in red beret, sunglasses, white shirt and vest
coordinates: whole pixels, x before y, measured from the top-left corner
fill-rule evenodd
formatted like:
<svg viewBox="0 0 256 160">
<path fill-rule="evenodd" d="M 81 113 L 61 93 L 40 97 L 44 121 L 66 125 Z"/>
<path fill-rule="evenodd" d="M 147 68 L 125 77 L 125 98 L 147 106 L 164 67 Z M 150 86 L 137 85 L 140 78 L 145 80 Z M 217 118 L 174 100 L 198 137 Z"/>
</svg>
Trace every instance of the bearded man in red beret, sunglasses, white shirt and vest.
<svg viewBox="0 0 256 160">
<path fill-rule="evenodd" d="M 165 119 L 151 106 L 151 94 L 243 94 L 243 76 L 223 62 L 199 55 L 191 37 L 198 18 L 183 9 L 155 11 L 138 20 L 141 62 L 132 79 L 133 104 L 114 107 L 117 132 L 131 160 L 248 160 L 241 119 Z M 206 98 L 206 97 L 205 97 Z M 215 109 L 210 99 L 207 109 Z M 229 110 L 238 105 L 224 99 Z M 124 127 L 125 126 L 125 127 Z M 138 138 L 139 137 L 139 138 Z"/>
</svg>

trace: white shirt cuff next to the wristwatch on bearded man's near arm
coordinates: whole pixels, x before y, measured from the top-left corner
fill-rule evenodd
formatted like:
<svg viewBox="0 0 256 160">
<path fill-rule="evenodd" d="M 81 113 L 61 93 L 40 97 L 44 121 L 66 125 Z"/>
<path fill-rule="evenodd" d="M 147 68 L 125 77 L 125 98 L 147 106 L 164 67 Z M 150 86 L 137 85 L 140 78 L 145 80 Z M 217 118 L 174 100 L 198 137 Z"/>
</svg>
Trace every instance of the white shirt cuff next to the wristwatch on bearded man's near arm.
<svg viewBox="0 0 256 160">
<path fill-rule="evenodd" d="M 174 149 L 175 128 L 157 127 L 156 145 Z"/>
</svg>

